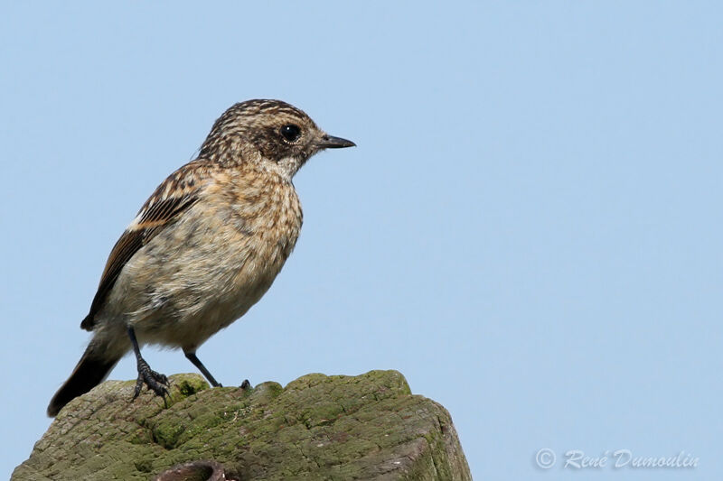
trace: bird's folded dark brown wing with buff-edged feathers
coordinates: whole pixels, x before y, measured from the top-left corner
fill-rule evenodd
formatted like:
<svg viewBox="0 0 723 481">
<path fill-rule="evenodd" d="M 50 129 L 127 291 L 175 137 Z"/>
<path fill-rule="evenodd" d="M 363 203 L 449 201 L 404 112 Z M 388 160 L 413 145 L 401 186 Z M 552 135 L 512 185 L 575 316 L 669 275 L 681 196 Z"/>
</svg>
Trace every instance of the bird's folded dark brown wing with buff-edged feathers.
<svg viewBox="0 0 723 481">
<path fill-rule="evenodd" d="M 146 200 L 110 251 L 106 268 L 100 276 L 98 291 L 88 316 L 80 323 L 81 328 L 92 330 L 95 326 L 95 316 L 106 301 L 108 292 L 113 289 L 118 275 L 136 252 L 198 201 L 202 190 L 208 185 L 210 171 L 210 162 L 189 162 L 164 180 Z"/>
</svg>

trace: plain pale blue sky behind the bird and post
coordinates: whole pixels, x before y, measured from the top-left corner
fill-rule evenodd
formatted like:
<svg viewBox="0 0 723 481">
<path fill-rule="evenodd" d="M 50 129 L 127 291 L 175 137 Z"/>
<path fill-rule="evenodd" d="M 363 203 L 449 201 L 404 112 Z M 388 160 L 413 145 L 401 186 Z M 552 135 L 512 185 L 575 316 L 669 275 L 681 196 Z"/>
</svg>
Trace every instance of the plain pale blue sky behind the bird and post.
<svg viewBox="0 0 723 481">
<path fill-rule="evenodd" d="M 398 369 L 451 412 L 478 479 L 720 478 L 722 14 L 5 3 L 0 477 L 46 430 L 137 208 L 223 110 L 273 97 L 359 147 L 296 176 L 295 253 L 199 350 L 223 384 Z M 111 374 L 135 377 L 129 357 Z M 700 462 L 544 471 L 542 448 Z"/>
</svg>

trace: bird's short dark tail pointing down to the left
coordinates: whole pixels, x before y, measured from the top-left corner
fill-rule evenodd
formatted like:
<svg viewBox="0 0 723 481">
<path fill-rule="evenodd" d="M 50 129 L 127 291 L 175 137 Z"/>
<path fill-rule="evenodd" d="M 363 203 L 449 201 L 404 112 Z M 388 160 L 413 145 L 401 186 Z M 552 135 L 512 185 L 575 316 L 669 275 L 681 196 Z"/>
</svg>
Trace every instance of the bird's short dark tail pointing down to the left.
<svg viewBox="0 0 723 481">
<path fill-rule="evenodd" d="M 100 384 L 122 356 L 122 353 L 113 355 L 110 350 L 103 352 L 90 343 L 68 380 L 52 396 L 48 416 L 55 417 L 65 404 Z"/>
</svg>

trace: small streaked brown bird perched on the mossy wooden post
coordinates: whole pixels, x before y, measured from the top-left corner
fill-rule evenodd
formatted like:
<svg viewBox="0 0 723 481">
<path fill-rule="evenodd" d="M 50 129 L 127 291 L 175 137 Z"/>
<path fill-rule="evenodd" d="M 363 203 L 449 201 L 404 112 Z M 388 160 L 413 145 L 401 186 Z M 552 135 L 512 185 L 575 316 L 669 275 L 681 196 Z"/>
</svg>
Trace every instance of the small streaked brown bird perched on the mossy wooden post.
<svg viewBox="0 0 723 481">
<path fill-rule="evenodd" d="M 48 416 L 100 384 L 131 350 L 133 399 L 144 384 L 165 399 L 168 379 L 141 356 L 145 345 L 181 348 L 211 386 L 221 386 L 196 350 L 261 299 L 294 249 L 303 220 L 296 172 L 315 153 L 355 145 L 281 100 L 230 106 L 197 157 L 155 189 L 111 250 L 80 323 L 92 338 Z"/>
</svg>

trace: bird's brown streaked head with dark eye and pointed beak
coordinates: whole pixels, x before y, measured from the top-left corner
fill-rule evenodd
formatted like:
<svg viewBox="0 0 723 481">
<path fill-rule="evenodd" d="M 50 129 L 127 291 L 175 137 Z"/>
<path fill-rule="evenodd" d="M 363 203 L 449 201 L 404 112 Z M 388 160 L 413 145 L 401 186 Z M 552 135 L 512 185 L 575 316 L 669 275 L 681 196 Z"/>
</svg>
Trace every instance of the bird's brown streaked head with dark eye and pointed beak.
<svg viewBox="0 0 723 481">
<path fill-rule="evenodd" d="M 291 179 L 315 153 L 354 145 L 326 134 L 311 117 L 286 102 L 247 100 L 216 120 L 200 156 L 228 163 L 262 162 Z"/>
</svg>

